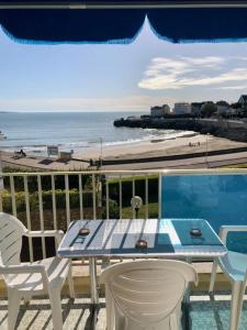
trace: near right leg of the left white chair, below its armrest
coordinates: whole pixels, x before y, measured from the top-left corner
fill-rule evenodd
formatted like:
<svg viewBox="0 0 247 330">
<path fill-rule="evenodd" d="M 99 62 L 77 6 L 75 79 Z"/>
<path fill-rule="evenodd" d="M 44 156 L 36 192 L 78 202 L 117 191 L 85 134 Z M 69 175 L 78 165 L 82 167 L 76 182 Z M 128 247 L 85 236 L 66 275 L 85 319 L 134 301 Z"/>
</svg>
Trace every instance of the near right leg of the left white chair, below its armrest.
<svg viewBox="0 0 247 330">
<path fill-rule="evenodd" d="M 60 290 L 57 288 L 49 288 L 48 293 L 52 307 L 53 328 L 54 330 L 63 330 Z"/>
</svg>

